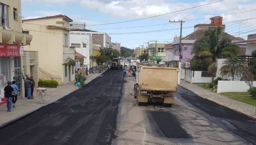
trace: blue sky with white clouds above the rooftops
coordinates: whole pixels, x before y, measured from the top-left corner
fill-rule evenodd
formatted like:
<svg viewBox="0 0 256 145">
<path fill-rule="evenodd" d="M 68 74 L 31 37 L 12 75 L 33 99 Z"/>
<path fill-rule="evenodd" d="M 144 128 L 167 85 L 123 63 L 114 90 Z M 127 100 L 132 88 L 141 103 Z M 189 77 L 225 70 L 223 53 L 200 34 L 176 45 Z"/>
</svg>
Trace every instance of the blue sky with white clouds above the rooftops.
<svg viewBox="0 0 256 145">
<path fill-rule="evenodd" d="M 179 37 L 180 24 L 169 20 L 185 21 L 185 37 L 196 24 L 209 24 L 210 14 L 222 16 L 226 32 L 235 37 L 256 33 L 255 0 L 21 0 L 21 13 L 23 19 L 63 14 L 130 49 Z"/>
</svg>

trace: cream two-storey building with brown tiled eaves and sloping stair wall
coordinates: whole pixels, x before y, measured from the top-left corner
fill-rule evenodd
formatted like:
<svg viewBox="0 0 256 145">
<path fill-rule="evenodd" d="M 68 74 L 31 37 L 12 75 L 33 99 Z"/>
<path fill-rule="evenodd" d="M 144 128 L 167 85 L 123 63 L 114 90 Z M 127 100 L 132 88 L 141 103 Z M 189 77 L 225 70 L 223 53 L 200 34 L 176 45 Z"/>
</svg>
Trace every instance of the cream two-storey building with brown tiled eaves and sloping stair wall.
<svg viewBox="0 0 256 145">
<path fill-rule="evenodd" d="M 69 22 L 66 15 L 22 20 L 24 32 L 34 35 L 25 50 L 38 51 L 39 78 L 57 80 L 59 85 L 75 80 L 75 66 L 62 65 L 67 58 L 75 59 L 75 48 L 69 47 Z"/>
</svg>

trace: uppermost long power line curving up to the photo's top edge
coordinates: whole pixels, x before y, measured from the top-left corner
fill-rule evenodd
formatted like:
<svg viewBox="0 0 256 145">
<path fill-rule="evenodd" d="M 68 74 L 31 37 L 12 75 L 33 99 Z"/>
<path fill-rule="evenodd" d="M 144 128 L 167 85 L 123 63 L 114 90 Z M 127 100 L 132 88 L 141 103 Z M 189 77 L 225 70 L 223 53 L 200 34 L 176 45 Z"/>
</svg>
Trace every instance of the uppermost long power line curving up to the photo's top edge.
<svg viewBox="0 0 256 145">
<path fill-rule="evenodd" d="M 217 2 L 221 2 L 221 1 L 225 1 L 225 0 L 219 0 L 219 1 L 216 1 L 216 2 L 208 3 L 208 4 L 214 4 L 214 3 L 217 3 Z M 201 7 L 201 6 L 205 6 L 205 5 L 208 5 L 208 4 L 202 4 L 202 5 L 198 5 L 198 6 L 195 6 L 195 7 L 191 7 L 191 8 L 179 10 L 179 11 L 185 11 L 185 10 L 189 10 L 189 9 L 194 9 L 194 8 Z M 133 19 L 133 20 L 121 21 L 121 22 L 115 22 L 115 23 L 106 23 L 106 24 L 98 24 L 98 25 L 87 25 L 87 26 L 101 26 L 101 25 L 110 25 L 110 24 L 125 23 L 125 22 L 131 22 L 131 21 L 137 21 L 137 20 L 142 20 L 142 19 L 148 19 L 148 18 L 154 18 L 154 17 L 164 16 L 164 15 L 171 14 L 171 13 L 175 13 L 175 12 L 179 12 L 179 11 L 173 11 L 173 12 L 169 12 L 169 13 L 165 13 L 165 14 L 161 14 L 161 15 L 156 15 L 156 16 L 151 16 L 151 17 L 146 17 L 146 18 L 141 18 L 141 19 Z"/>
</svg>

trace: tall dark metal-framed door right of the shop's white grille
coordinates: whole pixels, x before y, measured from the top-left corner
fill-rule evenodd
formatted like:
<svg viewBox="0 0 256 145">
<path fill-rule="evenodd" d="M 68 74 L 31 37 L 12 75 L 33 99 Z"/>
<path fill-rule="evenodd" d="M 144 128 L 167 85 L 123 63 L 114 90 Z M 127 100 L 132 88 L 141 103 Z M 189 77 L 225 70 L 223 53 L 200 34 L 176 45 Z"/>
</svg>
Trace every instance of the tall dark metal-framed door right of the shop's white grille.
<svg viewBox="0 0 256 145">
<path fill-rule="evenodd" d="M 14 80 L 19 89 L 17 96 L 22 96 L 22 75 L 21 75 L 21 62 L 20 57 L 14 57 Z"/>
</svg>

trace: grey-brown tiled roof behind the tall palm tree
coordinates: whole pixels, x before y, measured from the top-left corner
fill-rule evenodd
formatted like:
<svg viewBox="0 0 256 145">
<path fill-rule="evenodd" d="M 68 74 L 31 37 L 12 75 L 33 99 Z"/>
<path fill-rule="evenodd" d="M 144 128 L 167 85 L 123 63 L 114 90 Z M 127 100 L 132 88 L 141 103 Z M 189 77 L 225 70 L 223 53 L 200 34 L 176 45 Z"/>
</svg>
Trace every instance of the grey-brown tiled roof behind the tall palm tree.
<svg viewBox="0 0 256 145">
<path fill-rule="evenodd" d="M 202 38 L 204 36 L 204 31 L 206 30 L 196 30 L 191 34 L 188 34 L 186 37 L 184 37 L 182 40 L 198 40 L 200 38 Z M 231 39 L 232 41 L 243 41 L 243 38 L 240 37 L 234 37 L 228 33 L 225 33 L 223 31 L 221 31 L 220 33 L 220 38 L 224 38 L 224 37 L 228 37 L 229 39 Z"/>
</svg>

